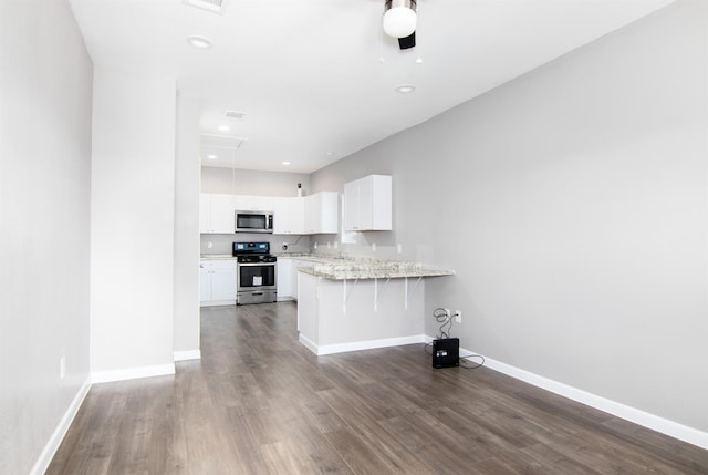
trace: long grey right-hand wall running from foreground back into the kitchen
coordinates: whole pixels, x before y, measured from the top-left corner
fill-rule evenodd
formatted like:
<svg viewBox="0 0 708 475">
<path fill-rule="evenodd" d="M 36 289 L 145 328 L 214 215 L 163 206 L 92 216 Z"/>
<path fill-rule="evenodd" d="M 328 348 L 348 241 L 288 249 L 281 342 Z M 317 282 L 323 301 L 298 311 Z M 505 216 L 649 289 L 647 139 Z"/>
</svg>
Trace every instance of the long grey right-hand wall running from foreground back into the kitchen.
<svg viewBox="0 0 708 475">
<path fill-rule="evenodd" d="M 708 441 L 708 6 L 680 1 L 312 175 L 394 176 L 461 345 Z M 428 334 L 437 332 L 433 318 Z M 690 432 L 690 431 L 689 431 Z"/>
</svg>

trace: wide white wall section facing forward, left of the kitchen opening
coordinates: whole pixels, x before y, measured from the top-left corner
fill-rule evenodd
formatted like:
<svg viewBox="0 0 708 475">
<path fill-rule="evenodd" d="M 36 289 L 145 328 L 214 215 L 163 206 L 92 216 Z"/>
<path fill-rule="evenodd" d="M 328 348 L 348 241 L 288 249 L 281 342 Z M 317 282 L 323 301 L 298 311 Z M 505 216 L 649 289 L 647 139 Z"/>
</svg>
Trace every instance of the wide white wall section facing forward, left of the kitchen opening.
<svg viewBox="0 0 708 475">
<path fill-rule="evenodd" d="M 94 70 L 91 371 L 174 371 L 176 84 Z"/>
</svg>

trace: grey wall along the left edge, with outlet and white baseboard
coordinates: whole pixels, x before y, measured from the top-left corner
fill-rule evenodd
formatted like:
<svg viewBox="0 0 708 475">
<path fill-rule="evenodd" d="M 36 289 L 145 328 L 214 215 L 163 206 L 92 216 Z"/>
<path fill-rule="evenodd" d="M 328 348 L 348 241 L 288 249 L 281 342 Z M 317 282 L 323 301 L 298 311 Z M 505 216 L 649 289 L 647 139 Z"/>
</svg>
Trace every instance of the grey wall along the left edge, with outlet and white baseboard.
<svg viewBox="0 0 708 475">
<path fill-rule="evenodd" d="M 2 474 L 41 473 L 88 388 L 91 82 L 67 2 L 0 1 Z"/>
</svg>

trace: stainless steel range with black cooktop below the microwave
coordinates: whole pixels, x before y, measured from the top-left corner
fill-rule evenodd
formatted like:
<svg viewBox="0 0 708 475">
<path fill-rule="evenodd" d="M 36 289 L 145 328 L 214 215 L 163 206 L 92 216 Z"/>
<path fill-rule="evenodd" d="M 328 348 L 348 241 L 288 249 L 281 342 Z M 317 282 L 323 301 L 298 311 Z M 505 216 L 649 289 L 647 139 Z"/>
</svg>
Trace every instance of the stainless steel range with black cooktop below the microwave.
<svg viewBox="0 0 708 475">
<path fill-rule="evenodd" d="M 236 304 L 278 300 L 275 262 L 269 242 L 233 242 L 236 257 Z"/>
</svg>

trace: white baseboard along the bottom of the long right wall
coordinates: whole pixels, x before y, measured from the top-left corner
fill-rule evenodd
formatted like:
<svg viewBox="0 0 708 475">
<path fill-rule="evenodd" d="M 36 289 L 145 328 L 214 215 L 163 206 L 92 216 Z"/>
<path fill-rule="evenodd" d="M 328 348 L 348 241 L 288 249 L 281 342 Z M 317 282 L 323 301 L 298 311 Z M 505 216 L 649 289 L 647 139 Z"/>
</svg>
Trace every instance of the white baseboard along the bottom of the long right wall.
<svg viewBox="0 0 708 475">
<path fill-rule="evenodd" d="M 433 338 L 426 335 L 426 342 L 433 341 Z M 469 357 L 475 353 L 473 351 L 460 348 L 460 357 Z M 539 374 L 531 373 L 525 370 L 512 366 L 501 361 L 493 360 L 485 357 L 485 366 L 499 371 L 517 380 L 521 380 L 537 388 L 544 389 L 552 393 L 562 395 L 570 400 L 580 402 L 600 411 L 606 412 L 612 415 L 616 415 L 625 421 L 633 422 L 662 434 L 668 435 L 679 441 L 687 442 L 693 445 L 697 445 L 701 448 L 708 448 L 708 433 L 699 431 L 694 427 L 689 427 L 684 424 L 679 424 L 674 421 L 660 417 L 655 414 L 628 406 L 626 404 L 618 403 L 616 401 L 608 400 L 606 397 L 598 396 L 596 394 L 589 393 L 577 388 L 570 386 L 568 384 L 551 380 Z"/>
</svg>

